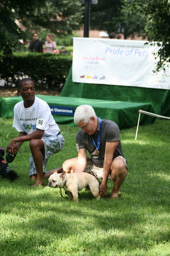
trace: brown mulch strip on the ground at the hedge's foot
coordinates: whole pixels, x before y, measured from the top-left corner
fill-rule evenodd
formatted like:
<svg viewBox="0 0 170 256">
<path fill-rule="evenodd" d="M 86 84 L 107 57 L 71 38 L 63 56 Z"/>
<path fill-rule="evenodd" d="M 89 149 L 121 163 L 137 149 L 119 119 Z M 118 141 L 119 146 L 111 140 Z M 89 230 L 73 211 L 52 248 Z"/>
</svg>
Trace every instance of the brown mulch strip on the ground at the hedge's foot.
<svg viewBox="0 0 170 256">
<path fill-rule="evenodd" d="M 11 88 L 4 88 L 0 87 L 0 98 L 5 98 L 5 97 L 16 97 L 18 91 L 16 90 L 15 87 Z M 35 94 L 41 94 L 41 95 L 52 95 L 52 96 L 60 96 L 60 92 L 57 91 L 51 91 L 51 90 L 35 90 Z"/>
</svg>

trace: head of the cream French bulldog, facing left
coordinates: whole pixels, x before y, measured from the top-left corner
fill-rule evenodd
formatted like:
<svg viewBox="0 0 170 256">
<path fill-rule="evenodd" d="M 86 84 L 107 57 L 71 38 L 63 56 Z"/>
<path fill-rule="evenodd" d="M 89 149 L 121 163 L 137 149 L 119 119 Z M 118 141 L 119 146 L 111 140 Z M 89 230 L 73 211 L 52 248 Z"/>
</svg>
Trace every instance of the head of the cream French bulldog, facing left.
<svg viewBox="0 0 170 256">
<path fill-rule="evenodd" d="M 61 174 L 57 173 L 57 170 L 50 176 L 48 179 L 48 186 L 51 188 L 62 188 L 65 182 L 66 172 L 62 172 Z"/>
</svg>

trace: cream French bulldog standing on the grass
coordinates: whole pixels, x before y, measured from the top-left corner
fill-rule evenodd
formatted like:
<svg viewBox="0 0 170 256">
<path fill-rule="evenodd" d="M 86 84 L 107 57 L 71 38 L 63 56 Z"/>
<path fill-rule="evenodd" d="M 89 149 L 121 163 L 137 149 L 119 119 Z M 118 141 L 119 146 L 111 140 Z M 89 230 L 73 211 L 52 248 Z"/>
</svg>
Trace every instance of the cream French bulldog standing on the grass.
<svg viewBox="0 0 170 256">
<path fill-rule="evenodd" d="M 96 178 L 86 172 L 78 173 L 57 173 L 57 170 L 48 179 L 48 186 L 51 188 L 63 188 L 68 193 L 68 198 L 74 198 L 74 202 L 78 202 L 78 191 L 83 188 L 91 189 L 92 194 L 99 199 L 99 182 Z"/>
</svg>

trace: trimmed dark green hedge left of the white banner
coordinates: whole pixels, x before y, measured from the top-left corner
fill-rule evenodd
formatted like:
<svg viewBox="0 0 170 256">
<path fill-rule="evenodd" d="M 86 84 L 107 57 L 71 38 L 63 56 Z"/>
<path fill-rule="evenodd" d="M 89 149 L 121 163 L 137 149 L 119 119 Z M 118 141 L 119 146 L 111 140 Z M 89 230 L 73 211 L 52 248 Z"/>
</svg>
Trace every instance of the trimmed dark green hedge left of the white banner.
<svg viewBox="0 0 170 256">
<path fill-rule="evenodd" d="M 37 89 L 60 92 L 72 65 L 72 56 L 51 53 L 0 55 L 0 79 L 5 86 L 18 86 L 18 79 L 29 77 Z"/>
</svg>

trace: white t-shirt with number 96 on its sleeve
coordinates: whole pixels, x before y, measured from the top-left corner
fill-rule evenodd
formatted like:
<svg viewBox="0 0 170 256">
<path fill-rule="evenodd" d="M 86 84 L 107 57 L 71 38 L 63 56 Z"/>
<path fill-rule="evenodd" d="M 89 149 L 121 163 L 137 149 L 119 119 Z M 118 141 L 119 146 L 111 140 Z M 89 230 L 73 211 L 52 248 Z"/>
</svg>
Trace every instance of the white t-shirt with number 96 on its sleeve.
<svg viewBox="0 0 170 256">
<path fill-rule="evenodd" d="M 26 132 L 27 134 L 35 132 L 38 128 L 44 130 L 42 137 L 57 135 L 60 131 L 46 101 L 37 97 L 30 108 L 24 107 L 23 100 L 15 105 L 12 127 L 15 127 L 18 132 Z"/>
</svg>

